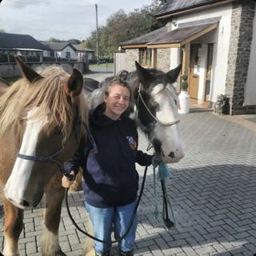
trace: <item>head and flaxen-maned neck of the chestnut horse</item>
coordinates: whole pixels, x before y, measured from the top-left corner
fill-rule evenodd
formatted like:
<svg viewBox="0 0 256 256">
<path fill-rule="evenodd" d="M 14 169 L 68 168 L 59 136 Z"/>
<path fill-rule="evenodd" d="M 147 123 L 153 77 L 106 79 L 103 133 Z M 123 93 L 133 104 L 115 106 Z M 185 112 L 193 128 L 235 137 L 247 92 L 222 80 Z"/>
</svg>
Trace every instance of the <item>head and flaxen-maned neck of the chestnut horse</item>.
<svg viewBox="0 0 256 256">
<path fill-rule="evenodd" d="M 6 198 L 24 208 L 36 206 L 55 178 L 61 187 L 59 168 L 77 149 L 87 112 L 79 70 L 70 75 L 51 66 L 38 73 L 20 58 L 16 61 L 23 78 L 0 102 L 0 141 L 10 138 L 16 151 L 10 155 L 14 162 L 5 170 L 6 180 L 1 180 Z"/>
</svg>

